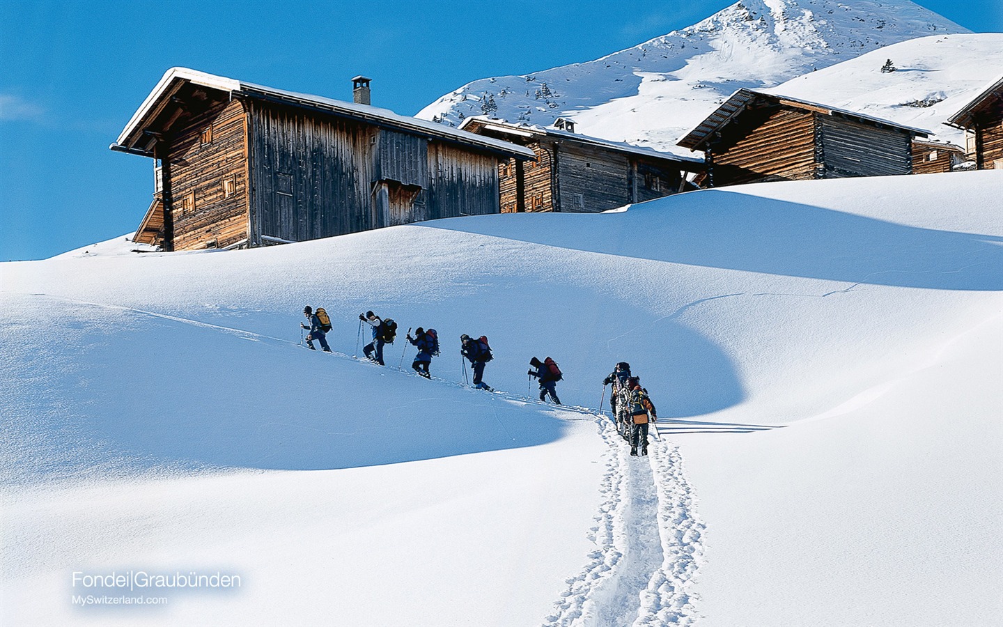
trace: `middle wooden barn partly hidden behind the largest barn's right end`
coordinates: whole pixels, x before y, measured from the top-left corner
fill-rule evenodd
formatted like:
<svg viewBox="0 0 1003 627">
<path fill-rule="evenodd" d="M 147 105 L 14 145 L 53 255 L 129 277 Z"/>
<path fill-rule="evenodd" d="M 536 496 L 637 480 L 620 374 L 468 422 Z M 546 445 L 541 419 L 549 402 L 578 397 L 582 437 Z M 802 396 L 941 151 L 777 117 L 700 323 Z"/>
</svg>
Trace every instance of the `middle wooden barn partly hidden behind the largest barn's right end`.
<svg viewBox="0 0 1003 627">
<path fill-rule="evenodd" d="M 578 134 L 570 119 L 544 128 L 476 116 L 459 127 L 536 155 L 498 164 L 504 213 L 603 212 L 693 189 L 687 174 L 703 172 L 702 159 Z"/>
</svg>

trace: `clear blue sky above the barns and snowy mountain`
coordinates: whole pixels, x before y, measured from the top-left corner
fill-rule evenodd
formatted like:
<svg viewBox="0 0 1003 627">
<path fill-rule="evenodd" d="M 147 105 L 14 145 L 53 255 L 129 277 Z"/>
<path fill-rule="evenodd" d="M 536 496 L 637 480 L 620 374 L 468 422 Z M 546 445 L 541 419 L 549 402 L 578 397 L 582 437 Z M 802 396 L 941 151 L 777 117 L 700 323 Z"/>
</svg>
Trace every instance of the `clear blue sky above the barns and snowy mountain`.
<svg viewBox="0 0 1003 627">
<path fill-rule="evenodd" d="M 591 60 L 732 3 L 0 0 L 0 261 L 135 229 L 152 166 L 108 144 L 170 67 L 344 99 L 363 73 L 374 104 L 414 114 L 470 80 Z M 1003 32 L 1003 0 L 917 4 Z"/>
</svg>

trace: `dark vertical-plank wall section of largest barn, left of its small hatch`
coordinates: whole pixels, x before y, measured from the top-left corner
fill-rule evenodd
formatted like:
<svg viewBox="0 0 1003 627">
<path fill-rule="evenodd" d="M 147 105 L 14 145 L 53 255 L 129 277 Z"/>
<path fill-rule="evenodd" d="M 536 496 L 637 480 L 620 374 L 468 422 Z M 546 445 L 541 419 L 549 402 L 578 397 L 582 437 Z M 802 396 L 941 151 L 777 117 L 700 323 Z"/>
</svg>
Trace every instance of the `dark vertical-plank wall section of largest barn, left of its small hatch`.
<svg viewBox="0 0 1003 627">
<path fill-rule="evenodd" d="M 376 227 L 378 128 L 261 102 L 251 119 L 252 244 Z"/>
</svg>

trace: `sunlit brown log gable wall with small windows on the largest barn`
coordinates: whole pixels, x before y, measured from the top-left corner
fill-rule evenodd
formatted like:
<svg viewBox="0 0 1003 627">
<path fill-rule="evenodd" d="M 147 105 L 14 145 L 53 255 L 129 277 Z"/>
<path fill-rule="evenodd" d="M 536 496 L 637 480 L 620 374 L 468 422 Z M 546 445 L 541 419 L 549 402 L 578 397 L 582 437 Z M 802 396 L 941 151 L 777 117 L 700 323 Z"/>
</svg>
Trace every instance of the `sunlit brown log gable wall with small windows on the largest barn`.
<svg viewBox="0 0 1003 627">
<path fill-rule="evenodd" d="M 248 238 L 247 126 L 240 101 L 213 103 L 172 129 L 163 161 L 174 250 L 226 248 Z"/>
</svg>

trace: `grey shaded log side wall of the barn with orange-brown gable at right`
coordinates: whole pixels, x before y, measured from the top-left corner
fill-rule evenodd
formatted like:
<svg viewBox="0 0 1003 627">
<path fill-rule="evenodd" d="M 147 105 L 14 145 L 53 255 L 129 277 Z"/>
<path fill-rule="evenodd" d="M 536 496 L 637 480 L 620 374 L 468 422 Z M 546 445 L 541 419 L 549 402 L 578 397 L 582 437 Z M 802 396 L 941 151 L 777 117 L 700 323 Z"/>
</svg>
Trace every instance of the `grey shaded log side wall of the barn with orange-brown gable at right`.
<svg viewBox="0 0 1003 627">
<path fill-rule="evenodd" d="M 825 179 L 913 173 L 912 136 L 833 115 L 818 115 Z"/>
</svg>

